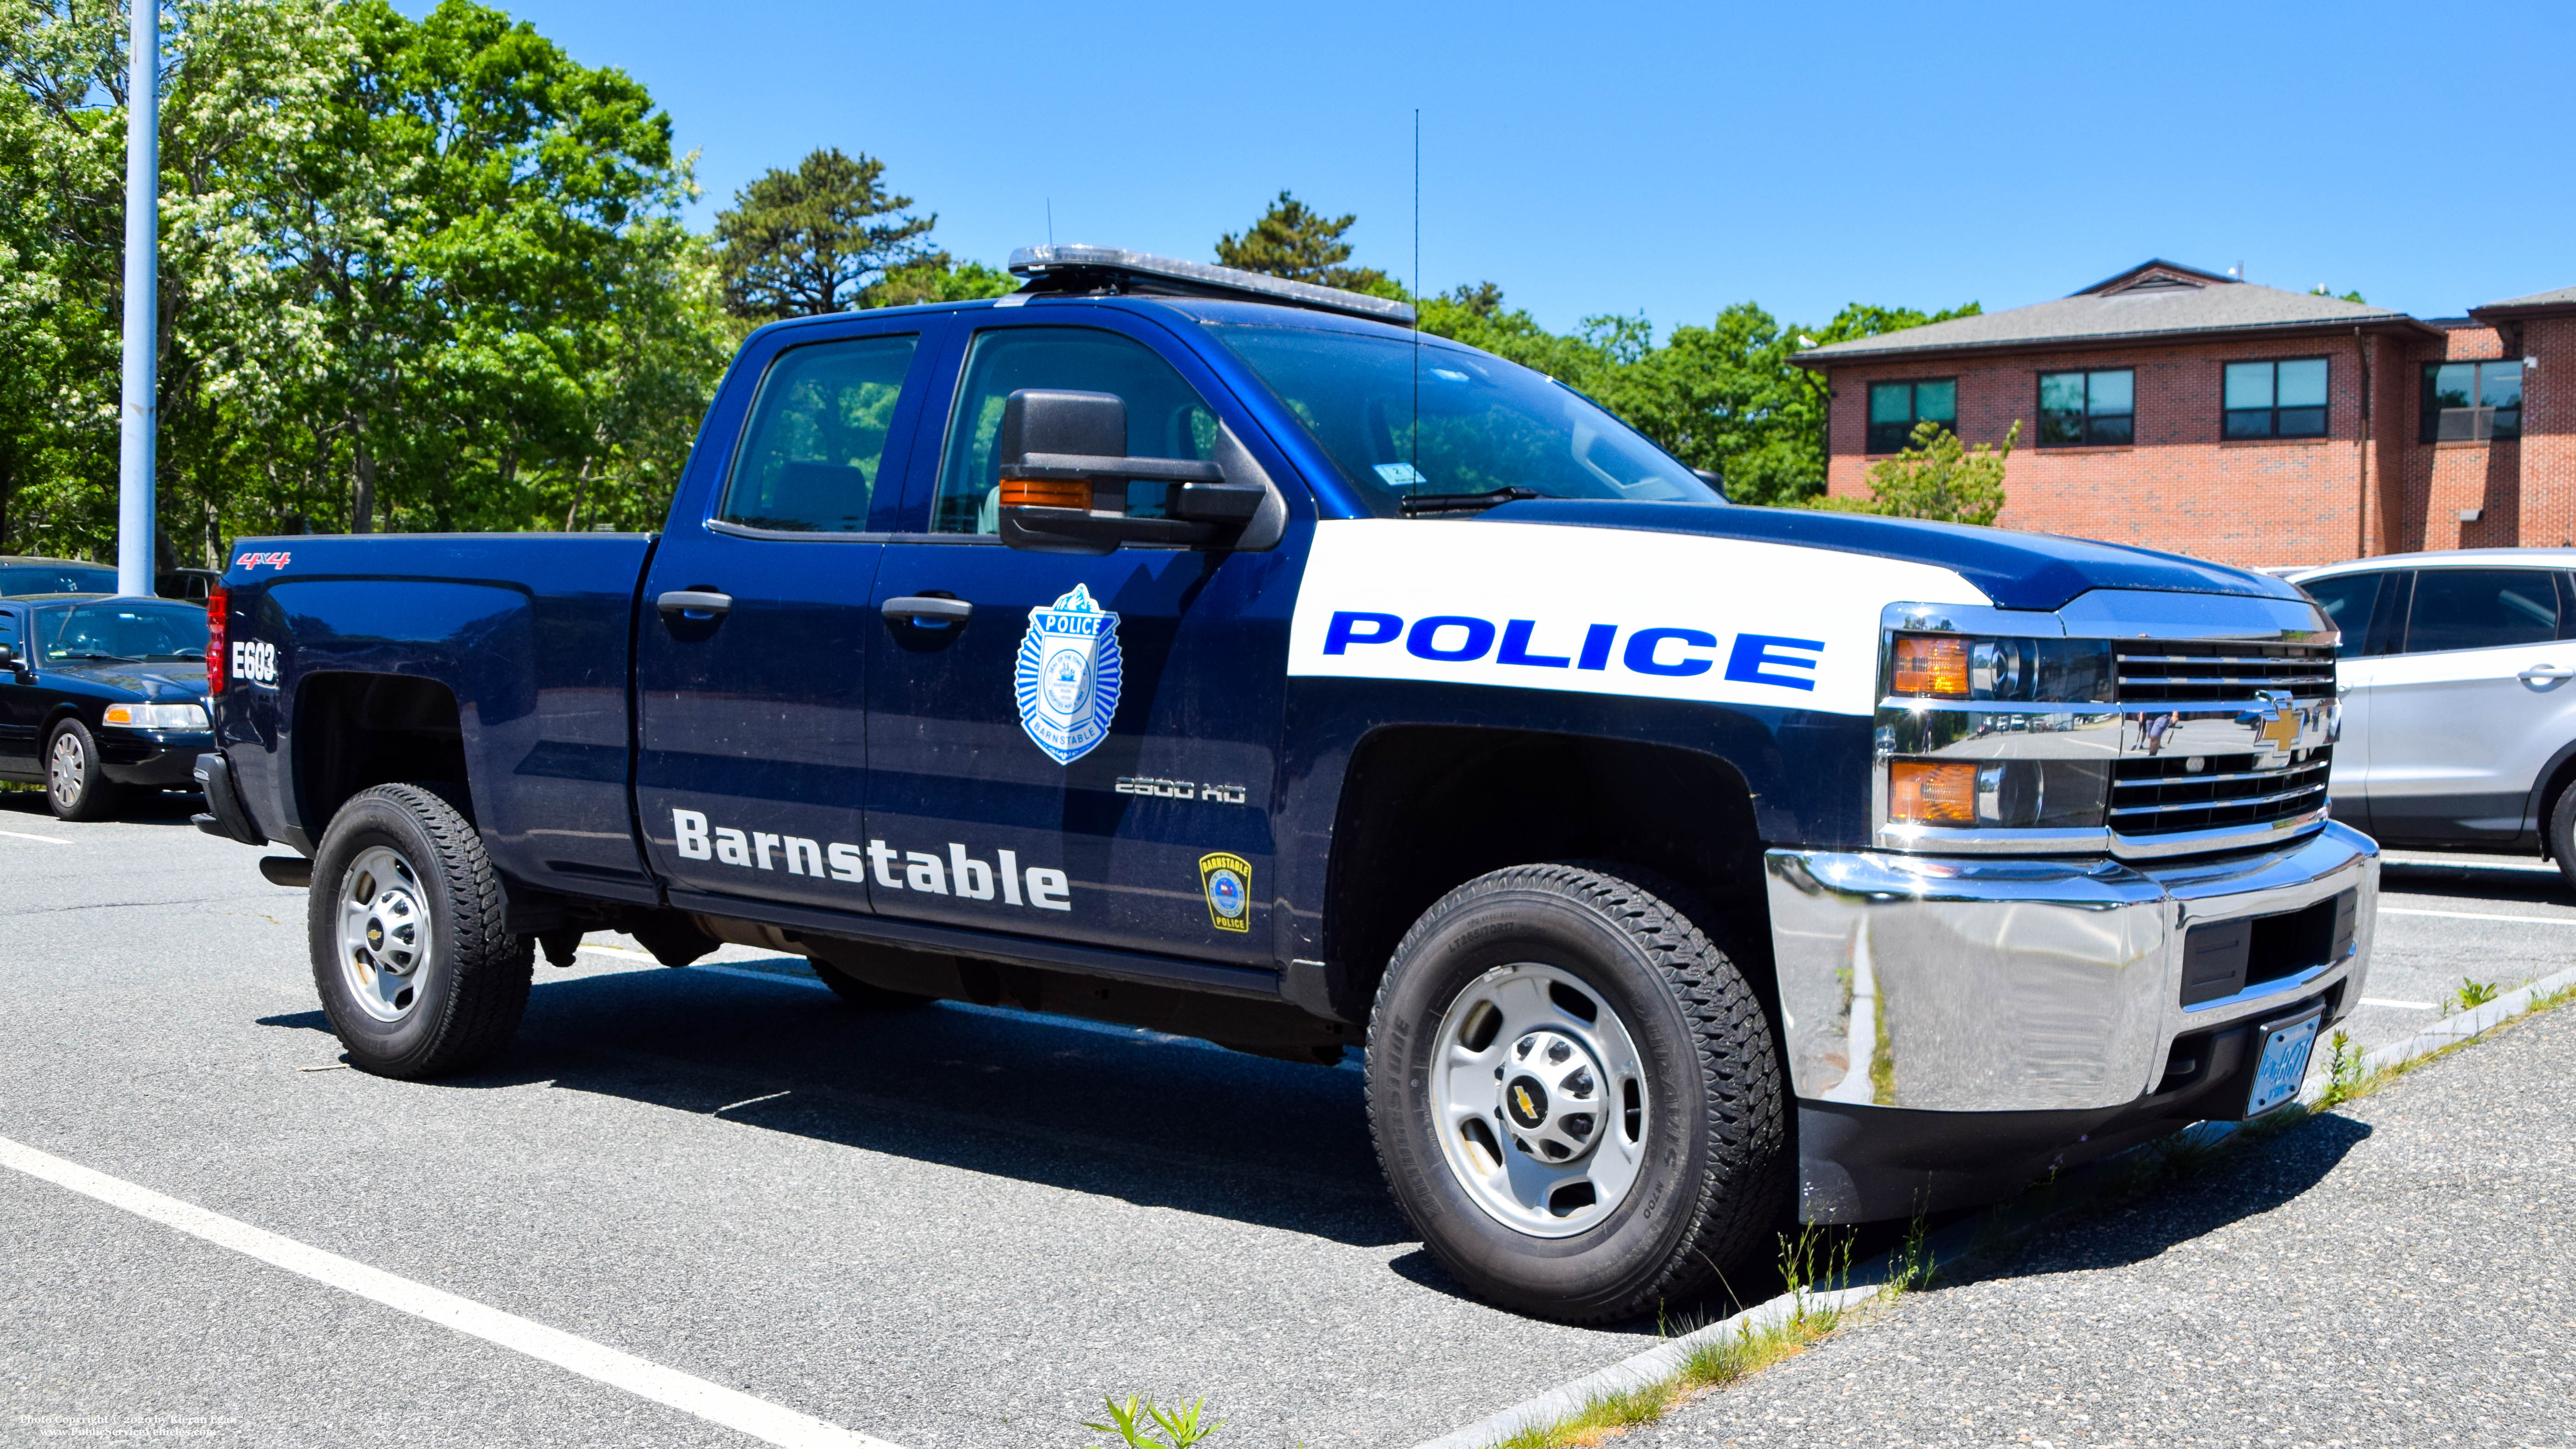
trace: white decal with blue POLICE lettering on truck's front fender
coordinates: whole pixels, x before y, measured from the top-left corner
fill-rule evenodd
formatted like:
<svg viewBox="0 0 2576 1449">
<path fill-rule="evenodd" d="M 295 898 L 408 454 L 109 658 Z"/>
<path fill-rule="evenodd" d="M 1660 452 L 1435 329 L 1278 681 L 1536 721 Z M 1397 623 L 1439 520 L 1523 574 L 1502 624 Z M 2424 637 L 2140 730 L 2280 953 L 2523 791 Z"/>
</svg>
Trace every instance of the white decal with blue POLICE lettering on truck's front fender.
<svg viewBox="0 0 2576 1449">
<path fill-rule="evenodd" d="M 1868 715 L 1891 602 L 1984 605 L 1950 569 L 1543 522 L 1314 530 L 1288 674 Z"/>
</svg>

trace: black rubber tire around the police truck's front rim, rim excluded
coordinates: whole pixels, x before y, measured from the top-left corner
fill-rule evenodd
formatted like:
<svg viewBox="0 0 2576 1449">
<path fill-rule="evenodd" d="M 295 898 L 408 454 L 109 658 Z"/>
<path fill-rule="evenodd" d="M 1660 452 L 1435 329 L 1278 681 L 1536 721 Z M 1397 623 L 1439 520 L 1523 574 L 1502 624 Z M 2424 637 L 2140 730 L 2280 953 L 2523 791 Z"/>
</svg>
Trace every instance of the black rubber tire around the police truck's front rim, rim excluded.
<svg viewBox="0 0 2576 1449">
<path fill-rule="evenodd" d="M 1793 1207 L 1793 1148 L 1770 1019 L 1698 921 L 1633 880 L 1515 865 L 1443 896 L 1404 934 L 1368 1022 L 1368 1120 L 1396 1204 L 1476 1295 L 1605 1323 L 1752 1282 Z M 1450 1168 L 1430 1068 L 1443 1017 L 1499 965 L 1582 981 L 1646 1073 L 1643 1166 L 1597 1225 L 1566 1238 L 1492 1215 Z M 1517 1027 L 1512 1027 L 1517 1029 Z M 1497 1073 L 1499 1076 L 1499 1073 Z"/>
</svg>

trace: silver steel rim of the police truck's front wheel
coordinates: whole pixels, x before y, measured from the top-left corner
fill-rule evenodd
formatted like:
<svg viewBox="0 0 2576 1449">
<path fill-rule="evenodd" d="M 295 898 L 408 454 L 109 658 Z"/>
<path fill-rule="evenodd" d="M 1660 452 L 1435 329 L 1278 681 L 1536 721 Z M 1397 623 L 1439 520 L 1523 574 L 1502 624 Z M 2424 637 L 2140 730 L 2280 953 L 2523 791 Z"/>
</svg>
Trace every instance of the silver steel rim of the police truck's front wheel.
<svg viewBox="0 0 2576 1449">
<path fill-rule="evenodd" d="M 1440 1156 L 1504 1228 L 1571 1238 L 1618 1210 L 1651 1109 L 1628 1024 L 1569 970 L 1497 965 L 1440 1017 Z"/>
</svg>

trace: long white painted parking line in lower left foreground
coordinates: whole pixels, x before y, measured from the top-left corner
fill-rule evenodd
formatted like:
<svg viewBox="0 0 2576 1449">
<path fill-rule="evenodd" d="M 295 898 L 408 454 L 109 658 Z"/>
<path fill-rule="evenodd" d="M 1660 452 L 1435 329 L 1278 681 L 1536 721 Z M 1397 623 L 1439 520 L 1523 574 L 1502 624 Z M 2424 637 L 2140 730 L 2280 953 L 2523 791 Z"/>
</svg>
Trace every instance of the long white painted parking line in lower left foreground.
<svg viewBox="0 0 2576 1449">
<path fill-rule="evenodd" d="M 134 1186 L 131 1181 L 41 1153 L 26 1143 L 0 1138 L 0 1166 L 18 1168 L 82 1197 L 95 1197 L 108 1207 L 121 1207 L 137 1217 L 160 1223 L 162 1228 L 204 1238 L 219 1248 L 247 1253 L 268 1266 L 353 1292 L 371 1302 L 410 1313 L 412 1318 L 425 1318 L 440 1328 L 453 1328 L 487 1343 L 528 1354 L 531 1359 L 569 1369 L 585 1380 L 626 1390 L 636 1398 L 649 1398 L 665 1408 L 677 1408 L 680 1413 L 698 1416 L 708 1423 L 721 1423 L 724 1428 L 737 1428 L 762 1444 L 781 1444 L 783 1449 L 896 1449 L 884 1439 L 868 1439 L 866 1434 L 824 1423 L 814 1416 L 781 1408 L 770 1400 L 752 1398 L 724 1385 L 711 1385 L 696 1374 L 683 1374 L 680 1369 L 665 1369 L 662 1364 L 621 1354 L 605 1343 L 592 1343 L 590 1338 L 577 1338 L 562 1328 L 546 1328 L 544 1323 L 533 1323 L 515 1313 L 484 1307 L 474 1300 L 456 1297 L 453 1292 L 399 1279 L 384 1269 L 343 1259 L 340 1253 L 307 1248 L 294 1238 L 281 1238 L 265 1228 L 224 1217 L 222 1212 L 209 1212 L 175 1197 L 162 1197 L 149 1186 Z"/>
</svg>

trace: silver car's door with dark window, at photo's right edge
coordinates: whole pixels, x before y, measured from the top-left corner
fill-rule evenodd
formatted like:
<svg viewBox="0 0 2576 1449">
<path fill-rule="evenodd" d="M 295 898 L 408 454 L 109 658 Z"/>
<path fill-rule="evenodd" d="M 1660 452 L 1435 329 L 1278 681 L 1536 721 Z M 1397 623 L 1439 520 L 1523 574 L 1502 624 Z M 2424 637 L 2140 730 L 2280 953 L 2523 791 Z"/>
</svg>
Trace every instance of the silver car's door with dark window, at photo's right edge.
<svg viewBox="0 0 2576 1449">
<path fill-rule="evenodd" d="M 2576 739 L 2576 610 L 2555 569 L 2416 569 L 2370 664 L 2370 831 L 2517 844 L 2540 767 Z"/>
</svg>

